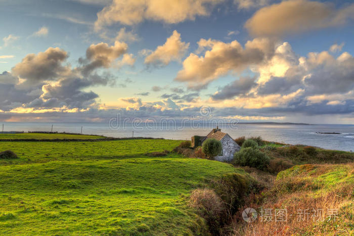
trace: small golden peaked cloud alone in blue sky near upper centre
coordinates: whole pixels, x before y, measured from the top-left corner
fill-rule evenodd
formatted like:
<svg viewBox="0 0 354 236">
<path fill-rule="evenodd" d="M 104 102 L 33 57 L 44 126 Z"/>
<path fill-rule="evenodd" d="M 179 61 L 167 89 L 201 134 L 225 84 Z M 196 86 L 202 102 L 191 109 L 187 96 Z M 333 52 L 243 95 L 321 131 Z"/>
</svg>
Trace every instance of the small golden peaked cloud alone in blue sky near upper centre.
<svg viewBox="0 0 354 236">
<path fill-rule="evenodd" d="M 145 58 L 145 64 L 156 66 L 168 65 L 170 61 L 180 61 L 186 54 L 189 43 L 181 41 L 181 34 L 176 30 L 167 38 L 165 44 L 158 46 L 155 51 Z"/>
</svg>

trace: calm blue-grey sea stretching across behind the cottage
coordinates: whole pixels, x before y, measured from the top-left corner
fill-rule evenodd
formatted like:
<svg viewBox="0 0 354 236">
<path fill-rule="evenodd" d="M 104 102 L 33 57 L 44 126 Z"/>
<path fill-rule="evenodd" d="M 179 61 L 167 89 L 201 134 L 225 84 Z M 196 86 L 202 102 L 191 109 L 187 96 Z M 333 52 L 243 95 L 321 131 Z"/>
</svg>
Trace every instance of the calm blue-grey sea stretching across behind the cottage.
<svg viewBox="0 0 354 236">
<path fill-rule="evenodd" d="M 153 137 L 190 140 L 193 135 L 206 135 L 215 124 L 139 124 L 107 123 L 17 123 L 4 122 L 4 131 L 51 131 L 97 134 L 108 137 Z M 261 136 L 264 140 L 289 144 L 304 144 L 333 150 L 354 151 L 354 125 L 219 125 L 232 138 Z M 2 124 L 0 123 L 0 131 Z M 336 132 L 340 134 L 318 134 Z"/>
</svg>

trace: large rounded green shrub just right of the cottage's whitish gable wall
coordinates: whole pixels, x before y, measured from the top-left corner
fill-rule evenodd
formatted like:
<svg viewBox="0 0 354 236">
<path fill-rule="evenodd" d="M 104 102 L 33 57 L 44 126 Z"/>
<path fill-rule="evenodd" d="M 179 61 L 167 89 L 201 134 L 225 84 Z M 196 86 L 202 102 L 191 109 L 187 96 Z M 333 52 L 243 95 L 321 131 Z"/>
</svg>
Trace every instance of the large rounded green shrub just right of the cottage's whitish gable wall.
<svg viewBox="0 0 354 236">
<path fill-rule="evenodd" d="M 252 147 L 242 147 L 234 155 L 234 164 L 254 167 L 258 170 L 263 170 L 269 164 L 269 161 L 270 158 L 267 155 Z"/>
</svg>

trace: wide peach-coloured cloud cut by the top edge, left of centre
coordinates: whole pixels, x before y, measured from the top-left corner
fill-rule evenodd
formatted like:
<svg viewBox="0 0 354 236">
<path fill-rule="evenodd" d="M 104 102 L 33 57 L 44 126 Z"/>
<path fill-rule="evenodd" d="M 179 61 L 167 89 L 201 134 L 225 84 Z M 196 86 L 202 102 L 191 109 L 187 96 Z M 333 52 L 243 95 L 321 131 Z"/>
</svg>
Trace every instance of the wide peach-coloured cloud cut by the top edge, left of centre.
<svg viewBox="0 0 354 236">
<path fill-rule="evenodd" d="M 115 22 L 134 25 L 145 19 L 167 24 L 194 20 L 196 16 L 208 16 L 213 6 L 220 2 L 223 0 L 113 0 L 97 13 L 95 29 Z"/>
</svg>

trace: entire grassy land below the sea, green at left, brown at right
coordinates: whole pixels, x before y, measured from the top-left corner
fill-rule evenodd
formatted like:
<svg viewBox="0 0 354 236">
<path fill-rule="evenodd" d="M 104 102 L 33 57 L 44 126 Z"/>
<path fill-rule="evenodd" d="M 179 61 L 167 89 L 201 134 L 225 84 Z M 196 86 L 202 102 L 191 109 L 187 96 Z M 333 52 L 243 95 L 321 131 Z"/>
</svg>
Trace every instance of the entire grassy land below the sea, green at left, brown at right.
<svg viewBox="0 0 354 236">
<path fill-rule="evenodd" d="M 171 152 L 181 140 L 7 137 L 0 152 L 18 158 L 0 159 L 0 235 L 354 234 L 354 153 L 257 138 L 270 158 L 260 170 L 187 158 L 195 151 L 188 147 Z M 226 209 L 220 218 L 215 206 Z M 289 218 L 248 224 L 247 207 L 286 208 Z M 298 209 L 338 209 L 340 217 L 299 222 Z"/>
</svg>

